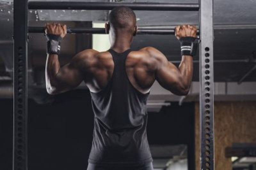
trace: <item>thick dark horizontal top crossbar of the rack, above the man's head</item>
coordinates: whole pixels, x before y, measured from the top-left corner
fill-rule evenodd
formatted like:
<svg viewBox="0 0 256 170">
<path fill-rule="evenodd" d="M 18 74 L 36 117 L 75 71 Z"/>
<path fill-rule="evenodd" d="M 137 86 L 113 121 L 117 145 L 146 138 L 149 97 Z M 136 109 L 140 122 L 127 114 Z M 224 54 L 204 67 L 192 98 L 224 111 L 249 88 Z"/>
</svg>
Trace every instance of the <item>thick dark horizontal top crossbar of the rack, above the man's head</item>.
<svg viewBox="0 0 256 170">
<path fill-rule="evenodd" d="M 112 10 L 117 6 L 144 11 L 199 11 L 198 3 L 28 2 L 30 10 Z"/>
</svg>

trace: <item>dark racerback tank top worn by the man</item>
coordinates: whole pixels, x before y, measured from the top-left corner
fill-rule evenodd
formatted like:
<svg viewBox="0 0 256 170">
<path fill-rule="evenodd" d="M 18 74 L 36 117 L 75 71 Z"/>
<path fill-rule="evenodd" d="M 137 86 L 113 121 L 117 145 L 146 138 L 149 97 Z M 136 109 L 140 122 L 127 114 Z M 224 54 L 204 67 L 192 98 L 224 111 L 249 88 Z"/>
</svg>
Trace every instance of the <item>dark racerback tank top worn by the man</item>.
<svg viewBox="0 0 256 170">
<path fill-rule="evenodd" d="M 135 89 L 125 69 L 131 49 L 123 53 L 108 50 L 114 72 L 108 85 L 93 93 L 94 130 L 91 164 L 139 165 L 152 162 L 147 139 L 147 94 Z"/>
</svg>

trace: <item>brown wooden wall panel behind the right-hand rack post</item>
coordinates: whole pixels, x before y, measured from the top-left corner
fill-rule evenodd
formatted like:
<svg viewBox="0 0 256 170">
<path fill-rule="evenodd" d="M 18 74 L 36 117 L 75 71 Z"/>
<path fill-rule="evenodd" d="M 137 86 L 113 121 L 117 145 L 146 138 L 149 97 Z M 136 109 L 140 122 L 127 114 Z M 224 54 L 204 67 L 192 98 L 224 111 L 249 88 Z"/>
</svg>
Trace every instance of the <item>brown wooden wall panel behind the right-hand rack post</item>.
<svg viewBox="0 0 256 170">
<path fill-rule="evenodd" d="M 199 103 L 195 105 L 196 170 L 199 170 Z M 256 143 L 256 102 L 214 102 L 215 170 L 231 170 L 225 148 Z"/>
</svg>

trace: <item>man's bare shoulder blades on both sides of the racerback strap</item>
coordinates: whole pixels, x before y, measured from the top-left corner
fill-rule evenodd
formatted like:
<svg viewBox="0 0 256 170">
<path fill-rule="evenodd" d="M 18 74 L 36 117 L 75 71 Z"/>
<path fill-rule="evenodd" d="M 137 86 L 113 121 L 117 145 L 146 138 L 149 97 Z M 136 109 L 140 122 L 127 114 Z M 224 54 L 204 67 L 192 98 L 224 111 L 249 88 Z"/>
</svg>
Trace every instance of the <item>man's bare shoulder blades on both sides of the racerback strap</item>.
<svg viewBox="0 0 256 170">
<path fill-rule="evenodd" d="M 154 83 L 154 71 L 156 70 L 154 58 L 145 49 L 130 52 L 125 63 L 129 81 L 134 88 L 142 93 L 147 93 Z M 95 53 L 92 53 L 92 57 L 96 58 L 96 63 L 95 66 L 89 69 L 90 71 L 87 72 L 87 75 L 85 75 L 87 77 L 85 83 L 91 92 L 98 92 L 107 86 L 108 81 L 112 77 L 114 61 L 108 51 L 98 53 L 95 51 Z M 88 77 L 91 78 L 88 79 Z"/>
</svg>

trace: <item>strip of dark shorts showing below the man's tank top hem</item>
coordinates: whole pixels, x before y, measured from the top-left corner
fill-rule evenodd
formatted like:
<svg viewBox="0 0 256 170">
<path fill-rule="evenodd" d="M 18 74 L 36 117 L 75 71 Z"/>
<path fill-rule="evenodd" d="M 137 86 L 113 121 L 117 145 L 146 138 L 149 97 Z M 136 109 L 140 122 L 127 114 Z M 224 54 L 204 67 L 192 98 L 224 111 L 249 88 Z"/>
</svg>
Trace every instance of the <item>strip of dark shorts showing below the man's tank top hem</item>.
<svg viewBox="0 0 256 170">
<path fill-rule="evenodd" d="M 87 167 L 87 170 L 153 170 L 153 164 L 148 163 L 140 166 L 110 166 L 110 165 L 94 165 L 90 164 Z"/>
</svg>

